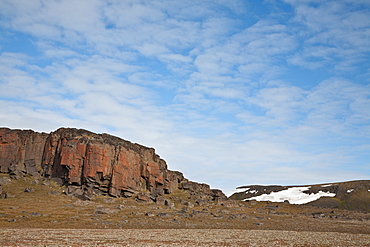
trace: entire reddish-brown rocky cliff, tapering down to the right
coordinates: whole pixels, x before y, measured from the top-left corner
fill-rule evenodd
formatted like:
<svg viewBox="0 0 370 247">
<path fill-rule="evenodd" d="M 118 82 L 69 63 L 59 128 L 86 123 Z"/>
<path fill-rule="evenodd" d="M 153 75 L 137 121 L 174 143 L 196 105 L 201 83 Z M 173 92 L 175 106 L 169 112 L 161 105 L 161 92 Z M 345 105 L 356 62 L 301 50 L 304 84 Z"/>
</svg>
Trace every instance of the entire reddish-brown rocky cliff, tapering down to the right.
<svg viewBox="0 0 370 247">
<path fill-rule="evenodd" d="M 153 148 L 82 129 L 60 128 L 47 134 L 0 128 L 0 172 L 12 179 L 27 174 L 53 179 L 67 187 L 67 194 L 87 199 L 146 192 L 155 200 L 178 189 L 199 200 L 226 199 L 220 190 L 168 170 Z"/>
</svg>

